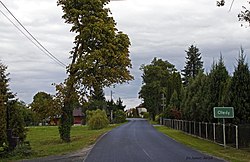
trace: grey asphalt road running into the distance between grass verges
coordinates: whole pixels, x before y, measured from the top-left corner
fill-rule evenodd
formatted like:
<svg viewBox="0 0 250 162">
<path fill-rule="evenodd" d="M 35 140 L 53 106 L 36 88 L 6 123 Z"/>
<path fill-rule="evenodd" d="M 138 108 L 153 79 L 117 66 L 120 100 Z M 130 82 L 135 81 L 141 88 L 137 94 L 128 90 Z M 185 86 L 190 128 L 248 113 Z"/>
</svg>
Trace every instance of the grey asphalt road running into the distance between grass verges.
<svg viewBox="0 0 250 162">
<path fill-rule="evenodd" d="M 159 133 L 146 120 L 131 119 L 104 135 L 85 162 L 222 162 Z"/>
</svg>

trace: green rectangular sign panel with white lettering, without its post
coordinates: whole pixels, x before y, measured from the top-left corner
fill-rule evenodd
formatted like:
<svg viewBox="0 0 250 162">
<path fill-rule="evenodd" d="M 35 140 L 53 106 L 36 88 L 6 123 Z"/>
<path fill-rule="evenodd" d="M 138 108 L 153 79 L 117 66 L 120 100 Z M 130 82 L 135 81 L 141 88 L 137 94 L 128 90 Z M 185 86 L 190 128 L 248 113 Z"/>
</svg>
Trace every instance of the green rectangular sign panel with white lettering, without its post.
<svg viewBox="0 0 250 162">
<path fill-rule="evenodd" d="M 214 118 L 234 118 L 234 108 L 214 107 Z"/>
</svg>

